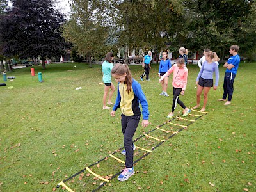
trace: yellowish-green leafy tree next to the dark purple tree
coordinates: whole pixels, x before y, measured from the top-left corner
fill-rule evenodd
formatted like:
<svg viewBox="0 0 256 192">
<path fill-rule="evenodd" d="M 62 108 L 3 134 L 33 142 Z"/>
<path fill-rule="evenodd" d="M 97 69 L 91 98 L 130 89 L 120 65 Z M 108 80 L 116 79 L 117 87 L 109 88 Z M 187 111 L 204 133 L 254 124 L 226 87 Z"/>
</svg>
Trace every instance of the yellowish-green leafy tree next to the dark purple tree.
<svg viewBox="0 0 256 192">
<path fill-rule="evenodd" d="M 70 20 L 63 26 L 65 39 L 88 59 L 90 67 L 91 57 L 102 54 L 108 40 L 108 24 L 104 22 L 104 12 L 100 12 L 99 4 L 96 0 L 72 1 Z M 104 4 L 100 5 L 104 7 Z"/>
</svg>

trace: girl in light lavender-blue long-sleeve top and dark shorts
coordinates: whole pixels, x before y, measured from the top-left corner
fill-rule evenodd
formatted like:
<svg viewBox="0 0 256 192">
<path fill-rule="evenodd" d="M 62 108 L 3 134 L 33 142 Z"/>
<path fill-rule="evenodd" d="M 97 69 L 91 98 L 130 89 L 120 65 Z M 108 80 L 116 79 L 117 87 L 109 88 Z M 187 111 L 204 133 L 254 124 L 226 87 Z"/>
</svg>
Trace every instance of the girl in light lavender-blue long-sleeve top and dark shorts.
<svg viewBox="0 0 256 192">
<path fill-rule="evenodd" d="M 199 108 L 200 97 L 202 91 L 204 90 L 204 105 L 203 108 L 200 110 L 202 112 L 205 111 L 208 101 L 208 92 L 213 86 L 213 72 L 215 72 L 215 84 L 213 86 L 213 90 L 217 89 L 219 83 L 219 68 L 216 61 L 219 61 L 220 58 L 218 58 L 216 52 L 209 51 L 205 54 L 205 60 L 206 61 L 203 63 L 202 68 L 200 69 L 200 72 L 198 73 L 198 76 L 196 78 L 196 106 L 192 108 Z"/>
</svg>

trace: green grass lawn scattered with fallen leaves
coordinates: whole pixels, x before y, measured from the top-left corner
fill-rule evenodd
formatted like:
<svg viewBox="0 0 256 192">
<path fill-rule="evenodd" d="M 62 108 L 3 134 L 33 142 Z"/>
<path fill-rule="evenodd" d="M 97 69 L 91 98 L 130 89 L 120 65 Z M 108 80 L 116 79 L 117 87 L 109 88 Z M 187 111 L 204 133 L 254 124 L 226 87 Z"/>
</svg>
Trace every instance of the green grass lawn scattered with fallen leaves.
<svg viewBox="0 0 256 192">
<path fill-rule="evenodd" d="M 193 107 L 199 68 L 188 68 L 188 86 L 180 98 Z M 139 80 L 141 66 L 131 66 L 131 71 Z M 46 70 L 35 67 L 35 72 L 42 72 L 44 83 L 31 76 L 30 68 L 22 68 L 8 74 L 16 78 L 0 87 L 0 191 L 53 191 L 61 180 L 123 146 L 120 110 L 112 118 L 110 110 L 102 109 L 99 65 L 51 64 Z M 172 96 L 159 95 L 157 72 L 158 65 L 152 65 L 151 81 L 140 81 L 152 124 L 145 129 L 140 125 L 134 138 L 163 124 L 170 112 Z M 220 67 L 219 87 L 209 92 L 209 114 L 139 161 L 134 166 L 138 172 L 129 180 L 115 178 L 100 191 L 256 191 L 255 72 L 256 63 L 240 64 L 232 104 L 223 106 L 216 101 L 223 94 L 225 70 Z M 80 86 L 83 89 L 75 90 Z M 171 83 L 168 93 L 172 95 Z M 115 97 L 116 92 L 113 102 Z M 178 106 L 175 113 L 182 113 L 182 108 Z M 146 146 L 150 140 L 144 141 Z M 123 168 L 114 159 L 99 165 L 93 167 L 99 175 Z M 76 191 L 95 189 L 100 180 L 86 174 L 68 186 Z"/>
</svg>

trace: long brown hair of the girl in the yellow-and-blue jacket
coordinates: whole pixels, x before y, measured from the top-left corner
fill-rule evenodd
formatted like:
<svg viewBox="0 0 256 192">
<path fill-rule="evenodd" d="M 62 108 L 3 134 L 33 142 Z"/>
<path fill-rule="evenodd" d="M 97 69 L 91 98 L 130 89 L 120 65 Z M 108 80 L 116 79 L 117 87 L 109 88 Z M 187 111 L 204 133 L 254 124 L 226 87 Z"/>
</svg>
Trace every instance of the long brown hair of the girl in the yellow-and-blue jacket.
<svg viewBox="0 0 256 192">
<path fill-rule="evenodd" d="M 111 70 L 111 74 L 123 76 L 126 74 L 124 83 L 127 85 L 127 93 L 131 92 L 132 88 L 132 74 L 128 65 L 117 63 Z"/>
</svg>

